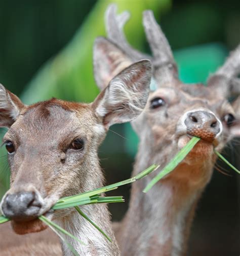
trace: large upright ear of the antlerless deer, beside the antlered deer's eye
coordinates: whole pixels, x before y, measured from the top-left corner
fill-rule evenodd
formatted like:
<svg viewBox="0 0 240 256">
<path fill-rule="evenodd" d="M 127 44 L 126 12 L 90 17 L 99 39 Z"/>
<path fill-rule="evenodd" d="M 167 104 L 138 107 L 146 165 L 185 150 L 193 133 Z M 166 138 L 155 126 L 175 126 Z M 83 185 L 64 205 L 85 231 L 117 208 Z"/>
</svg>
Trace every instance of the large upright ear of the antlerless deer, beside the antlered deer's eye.
<svg viewBox="0 0 240 256">
<path fill-rule="evenodd" d="M 141 60 L 115 76 L 93 102 L 106 128 L 135 119 L 145 107 L 151 80 L 151 62 Z"/>
</svg>

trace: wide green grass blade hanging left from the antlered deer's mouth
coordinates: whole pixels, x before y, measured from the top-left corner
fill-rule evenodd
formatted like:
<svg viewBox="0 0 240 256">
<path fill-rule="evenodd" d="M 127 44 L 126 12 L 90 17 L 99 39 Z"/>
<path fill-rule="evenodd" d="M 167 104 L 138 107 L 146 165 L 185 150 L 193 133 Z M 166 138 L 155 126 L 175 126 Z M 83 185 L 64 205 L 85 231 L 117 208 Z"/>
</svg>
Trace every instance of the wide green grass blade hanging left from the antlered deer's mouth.
<svg viewBox="0 0 240 256">
<path fill-rule="evenodd" d="M 156 182 L 170 173 L 172 170 L 174 170 L 178 164 L 187 156 L 187 154 L 191 151 L 191 149 L 194 147 L 194 145 L 200 140 L 200 138 L 193 137 L 190 141 L 185 145 L 184 148 L 182 148 L 178 154 L 171 160 L 170 163 L 168 163 L 164 169 L 159 172 L 146 186 L 146 188 L 143 190 L 144 193 L 148 192 Z"/>
</svg>

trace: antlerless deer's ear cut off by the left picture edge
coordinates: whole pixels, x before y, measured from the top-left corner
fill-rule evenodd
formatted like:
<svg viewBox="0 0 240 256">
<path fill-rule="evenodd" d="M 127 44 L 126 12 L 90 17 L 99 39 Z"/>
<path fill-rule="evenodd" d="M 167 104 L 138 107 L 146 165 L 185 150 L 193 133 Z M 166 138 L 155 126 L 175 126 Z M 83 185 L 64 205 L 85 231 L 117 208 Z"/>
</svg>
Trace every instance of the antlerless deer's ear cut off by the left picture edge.
<svg viewBox="0 0 240 256">
<path fill-rule="evenodd" d="M 22 101 L 0 84 L 0 127 L 10 127 L 24 107 Z"/>
</svg>

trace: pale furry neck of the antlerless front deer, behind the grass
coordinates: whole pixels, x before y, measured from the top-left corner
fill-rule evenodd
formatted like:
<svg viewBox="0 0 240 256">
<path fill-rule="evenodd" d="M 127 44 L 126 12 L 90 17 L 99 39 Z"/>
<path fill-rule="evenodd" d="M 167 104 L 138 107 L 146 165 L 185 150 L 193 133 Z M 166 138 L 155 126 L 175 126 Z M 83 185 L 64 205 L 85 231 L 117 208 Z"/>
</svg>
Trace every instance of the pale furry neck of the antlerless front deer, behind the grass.
<svg viewBox="0 0 240 256">
<path fill-rule="evenodd" d="M 94 173 L 97 173 L 97 175 L 95 175 L 96 180 L 93 180 L 94 173 L 93 175 L 89 173 L 91 182 L 88 182 L 88 189 L 85 189 L 84 191 L 103 186 L 103 175 L 99 164 L 96 163 L 95 168 L 92 166 L 92 169 L 94 169 Z M 99 177 L 101 177 L 101 179 Z M 83 192 L 83 190 L 79 191 L 79 193 L 81 192 Z M 79 207 L 94 223 L 110 236 L 112 242 L 109 242 L 95 227 L 75 210 L 72 210 L 72 212 L 65 217 L 57 218 L 56 223 L 79 240 L 83 241 L 85 245 L 69 237 L 65 237 L 67 242 L 72 245 L 79 255 L 119 255 L 119 248 L 112 231 L 110 213 L 107 205 L 90 204 Z M 64 256 L 72 255 L 72 252 L 65 242 L 62 242 L 62 250 Z"/>
</svg>

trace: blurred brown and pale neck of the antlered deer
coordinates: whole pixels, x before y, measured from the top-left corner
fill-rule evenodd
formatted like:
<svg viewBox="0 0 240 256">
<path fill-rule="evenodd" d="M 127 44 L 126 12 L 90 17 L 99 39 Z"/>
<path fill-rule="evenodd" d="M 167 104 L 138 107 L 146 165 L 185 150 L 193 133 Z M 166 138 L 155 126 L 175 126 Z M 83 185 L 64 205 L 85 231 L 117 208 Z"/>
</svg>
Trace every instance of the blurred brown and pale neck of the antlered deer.
<svg viewBox="0 0 240 256">
<path fill-rule="evenodd" d="M 163 168 L 170 161 L 163 156 L 140 144 L 133 175 L 153 163 Z M 180 165 L 175 175 L 158 181 L 146 194 L 142 191 L 156 173 L 132 185 L 129 210 L 116 233 L 123 255 L 184 255 L 195 206 L 209 178 L 201 182 L 196 178 L 192 185 L 191 178 L 184 180 L 176 173 L 202 173 L 204 168 Z"/>
</svg>

